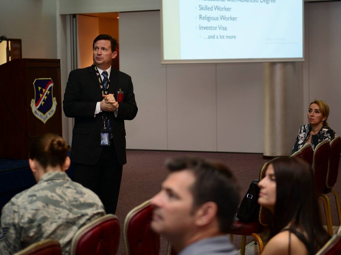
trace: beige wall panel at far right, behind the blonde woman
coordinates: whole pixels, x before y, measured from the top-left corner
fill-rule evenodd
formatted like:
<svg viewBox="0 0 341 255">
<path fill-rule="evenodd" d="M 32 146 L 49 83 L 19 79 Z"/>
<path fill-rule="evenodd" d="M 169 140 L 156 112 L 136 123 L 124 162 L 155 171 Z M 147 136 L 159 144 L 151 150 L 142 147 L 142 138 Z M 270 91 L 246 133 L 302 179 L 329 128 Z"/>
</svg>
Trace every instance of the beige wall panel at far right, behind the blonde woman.
<svg viewBox="0 0 341 255">
<path fill-rule="evenodd" d="M 328 123 L 338 135 L 341 134 L 340 13 L 341 1 L 309 4 L 309 99 L 328 103 Z"/>
</svg>

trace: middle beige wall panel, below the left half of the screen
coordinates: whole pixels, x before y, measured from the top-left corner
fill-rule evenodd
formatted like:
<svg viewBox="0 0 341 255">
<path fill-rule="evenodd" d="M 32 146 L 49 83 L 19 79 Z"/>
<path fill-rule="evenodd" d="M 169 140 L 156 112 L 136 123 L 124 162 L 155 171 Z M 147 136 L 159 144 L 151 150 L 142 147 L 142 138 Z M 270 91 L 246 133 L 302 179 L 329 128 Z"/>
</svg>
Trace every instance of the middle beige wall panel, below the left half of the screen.
<svg viewBox="0 0 341 255">
<path fill-rule="evenodd" d="M 167 65 L 168 150 L 217 151 L 216 65 Z"/>
</svg>

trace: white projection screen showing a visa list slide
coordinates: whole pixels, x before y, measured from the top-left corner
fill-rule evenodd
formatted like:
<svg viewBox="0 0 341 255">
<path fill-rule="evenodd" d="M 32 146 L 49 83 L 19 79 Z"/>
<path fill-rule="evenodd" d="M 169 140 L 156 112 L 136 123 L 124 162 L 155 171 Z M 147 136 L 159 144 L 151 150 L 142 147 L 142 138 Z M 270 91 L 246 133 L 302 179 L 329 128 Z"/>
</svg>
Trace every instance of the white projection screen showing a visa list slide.
<svg viewBox="0 0 341 255">
<path fill-rule="evenodd" d="M 303 0 L 161 0 L 163 64 L 304 61 Z"/>
</svg>

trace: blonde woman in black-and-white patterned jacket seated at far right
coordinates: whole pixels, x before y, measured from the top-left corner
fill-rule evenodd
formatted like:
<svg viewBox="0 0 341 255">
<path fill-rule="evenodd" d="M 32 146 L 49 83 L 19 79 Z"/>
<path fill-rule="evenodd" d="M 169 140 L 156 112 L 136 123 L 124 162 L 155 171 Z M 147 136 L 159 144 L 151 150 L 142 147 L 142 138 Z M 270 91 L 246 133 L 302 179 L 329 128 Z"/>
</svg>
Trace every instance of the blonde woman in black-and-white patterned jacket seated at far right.
<svg viewBox="0 0 341 255">
<path fill-rule="evenodd" d="M 325 102 L 315 99 L 310 103 L 308 109 L 309 124 L 301 126 L 291 154 L 298 151 L 306 143 L 311 144 L 314 150 L 316 145 L 323 140 L 328 139 L 330 142 L 336 137 L 335 132 L 329 128 L 327 123 L 328 116 L 329 106 Z"/>
</svg>

